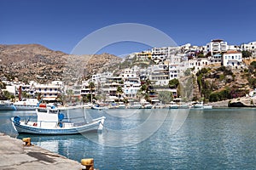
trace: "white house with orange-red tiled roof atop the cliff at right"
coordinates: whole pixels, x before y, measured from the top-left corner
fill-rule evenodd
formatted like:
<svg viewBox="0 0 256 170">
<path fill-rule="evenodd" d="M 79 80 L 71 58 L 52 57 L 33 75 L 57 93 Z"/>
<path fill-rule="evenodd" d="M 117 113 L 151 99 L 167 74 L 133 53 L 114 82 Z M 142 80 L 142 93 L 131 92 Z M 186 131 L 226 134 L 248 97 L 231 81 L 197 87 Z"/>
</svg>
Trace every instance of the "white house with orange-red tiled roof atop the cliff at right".
<svg viewBox="0 0 256 170">
<path fill-rule="evenodd" d="M 223 54 L 223 65 L 224 66 L 241 66 L 242 58 L 241 52 L 238 51 L 228 51 Z"/>
</svg>

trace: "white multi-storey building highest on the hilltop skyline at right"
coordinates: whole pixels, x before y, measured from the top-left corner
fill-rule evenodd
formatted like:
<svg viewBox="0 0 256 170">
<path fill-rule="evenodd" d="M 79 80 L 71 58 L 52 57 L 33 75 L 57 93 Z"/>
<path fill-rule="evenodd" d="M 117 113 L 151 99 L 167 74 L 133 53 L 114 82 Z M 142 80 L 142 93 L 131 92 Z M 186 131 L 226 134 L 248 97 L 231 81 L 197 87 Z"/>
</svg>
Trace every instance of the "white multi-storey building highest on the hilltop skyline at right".
<svg viewBox="0 0 256 170">
<path fill-rule="evenodd" d="M 221 39 L 212 40 L 212 42 L 207 43 L 207 52 L 219 53 L 226 52 L 228 50 L 228 43 Z"/>
</svg>

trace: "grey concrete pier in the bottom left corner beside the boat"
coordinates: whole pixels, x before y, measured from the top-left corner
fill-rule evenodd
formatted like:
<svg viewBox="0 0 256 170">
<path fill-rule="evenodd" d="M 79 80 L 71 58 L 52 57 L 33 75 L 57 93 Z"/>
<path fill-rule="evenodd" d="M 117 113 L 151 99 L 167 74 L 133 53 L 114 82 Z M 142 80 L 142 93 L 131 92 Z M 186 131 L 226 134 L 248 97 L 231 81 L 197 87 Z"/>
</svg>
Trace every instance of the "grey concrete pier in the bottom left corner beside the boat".
<svg viewBox="0 0 256 170">
<path fill-rule="evenodd" d="M 26 146 L 20 139 L 14 139 L 0 133 L 0 169 L 19 170 L 71 170 L 82 169 L 78 161 L 67 159 L 44 150 L 36 145 Z"/>
</svg>

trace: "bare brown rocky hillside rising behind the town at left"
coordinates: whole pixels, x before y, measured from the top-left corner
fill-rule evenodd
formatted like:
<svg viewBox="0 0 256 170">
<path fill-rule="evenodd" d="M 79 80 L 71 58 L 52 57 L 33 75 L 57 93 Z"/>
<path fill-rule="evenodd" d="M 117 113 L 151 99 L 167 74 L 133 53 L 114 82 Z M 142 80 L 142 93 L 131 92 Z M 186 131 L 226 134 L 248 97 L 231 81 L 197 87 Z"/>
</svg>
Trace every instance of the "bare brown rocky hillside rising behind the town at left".
<svg viewBox="0 0 256 170">
<path fill-rule="evenodd" d="M 22 82 L 73 83 L 121 60 L 112 54 L 65 54 L 38 44 L 0 45 L 0 77 L 8 80 L 18 77 Z"/>
</svg>

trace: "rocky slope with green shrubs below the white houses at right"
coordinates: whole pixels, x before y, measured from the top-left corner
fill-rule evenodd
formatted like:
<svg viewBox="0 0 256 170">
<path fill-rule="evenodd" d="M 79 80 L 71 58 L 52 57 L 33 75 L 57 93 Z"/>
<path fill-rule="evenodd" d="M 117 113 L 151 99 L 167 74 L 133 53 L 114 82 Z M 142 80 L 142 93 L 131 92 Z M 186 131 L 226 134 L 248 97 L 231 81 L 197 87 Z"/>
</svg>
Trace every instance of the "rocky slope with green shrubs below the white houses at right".
<svg viewBox="0 0 256 170">
<path fill-rule="evenodd" d="M 195 75 L 196 99 L 216 102 L 246 96 L 255 88 L 256 67 L 249 69 L 230 69 L 224 66 L 203 68 Z"/>
</svg>

